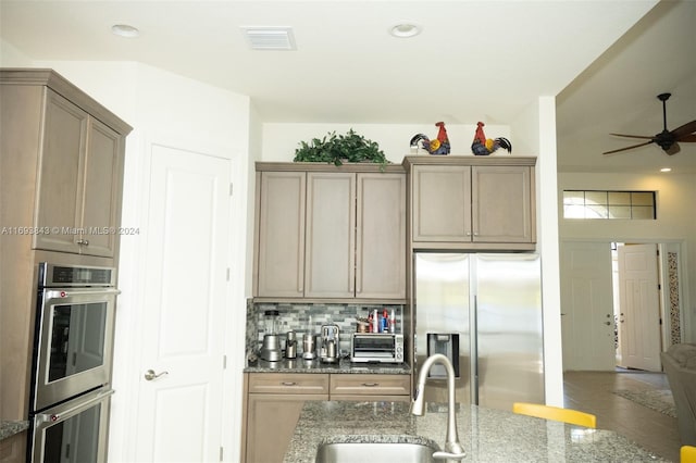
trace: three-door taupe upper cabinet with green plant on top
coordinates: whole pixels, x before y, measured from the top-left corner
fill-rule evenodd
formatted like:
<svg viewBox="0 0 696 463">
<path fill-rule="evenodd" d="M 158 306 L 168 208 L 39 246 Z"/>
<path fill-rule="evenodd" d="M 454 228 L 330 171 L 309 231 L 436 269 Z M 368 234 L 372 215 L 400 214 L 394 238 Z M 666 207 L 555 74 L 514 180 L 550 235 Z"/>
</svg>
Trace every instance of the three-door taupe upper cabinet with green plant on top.
<svg viewBox="0 0 696 463">
<path fill-rule="evenodd" d="M 406 298 L 402 167 L 258 163 L 257 171 L 254 297 Z"/>
</svg>

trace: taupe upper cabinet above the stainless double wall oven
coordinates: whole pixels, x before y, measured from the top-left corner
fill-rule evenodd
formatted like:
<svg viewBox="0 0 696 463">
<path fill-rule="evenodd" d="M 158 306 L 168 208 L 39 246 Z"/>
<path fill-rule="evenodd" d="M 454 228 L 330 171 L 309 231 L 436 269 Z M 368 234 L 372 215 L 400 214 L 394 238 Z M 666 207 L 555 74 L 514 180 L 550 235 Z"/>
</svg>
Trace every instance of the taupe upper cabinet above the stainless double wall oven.
<svg viewBox="0 0 696 463">
<path fill-rule="evenodd" d="M 52 71 L 0 72 L 2 155 L 30 180 L 3 203 L 26 216 L 12 225 L 33 249 L 114 258 L 132 128 Z"/>
</svg>

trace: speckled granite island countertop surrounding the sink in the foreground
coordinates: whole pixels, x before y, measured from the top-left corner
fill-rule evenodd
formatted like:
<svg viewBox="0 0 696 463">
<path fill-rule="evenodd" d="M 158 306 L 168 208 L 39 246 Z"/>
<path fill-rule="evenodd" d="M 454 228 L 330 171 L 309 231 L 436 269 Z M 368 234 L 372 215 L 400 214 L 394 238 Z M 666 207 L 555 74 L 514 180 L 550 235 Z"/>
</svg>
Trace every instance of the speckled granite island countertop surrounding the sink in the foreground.
<svg viewBox="0 0 696 463">
<path fill-rule="evenodd" d="M 445 443 L 447 405 L 428 404 L 413 416 L 405 402 L 304 403 L 285 463 L 313 462 L 325 442 L 382 441 Z M 462 404 L 459 440 L 469 462 L 664 462 L 610 430 L 586 429 L 512 412 Z"/>
</svg>

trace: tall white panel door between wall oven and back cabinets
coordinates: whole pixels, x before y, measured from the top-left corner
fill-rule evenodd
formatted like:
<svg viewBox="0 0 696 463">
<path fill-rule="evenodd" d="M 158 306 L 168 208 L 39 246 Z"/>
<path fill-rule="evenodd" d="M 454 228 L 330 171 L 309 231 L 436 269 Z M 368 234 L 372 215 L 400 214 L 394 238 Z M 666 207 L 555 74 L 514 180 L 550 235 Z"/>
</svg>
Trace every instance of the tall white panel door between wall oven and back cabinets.
<svg viewBox="0 0 696 463">
<path fill-rule="evenodd" d="M 220 461 L 229 179 L 229 160 L 152 149 L 137 461 Z"/>
</svg>

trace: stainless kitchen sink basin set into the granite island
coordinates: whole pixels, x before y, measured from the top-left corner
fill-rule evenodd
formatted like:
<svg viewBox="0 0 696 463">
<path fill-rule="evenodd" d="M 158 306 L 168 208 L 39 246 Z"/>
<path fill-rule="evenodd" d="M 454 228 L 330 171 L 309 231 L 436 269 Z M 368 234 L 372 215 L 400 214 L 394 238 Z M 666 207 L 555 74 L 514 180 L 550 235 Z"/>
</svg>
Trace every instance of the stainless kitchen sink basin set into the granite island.
<svg viewBox="0 0 696 463">
<path fill-rule="evenodd" d="M 319 446 L 314 462 L 432 463 L 438 450 L 435 443 L 420 442 L 331 442 Z"/>
</svg>

